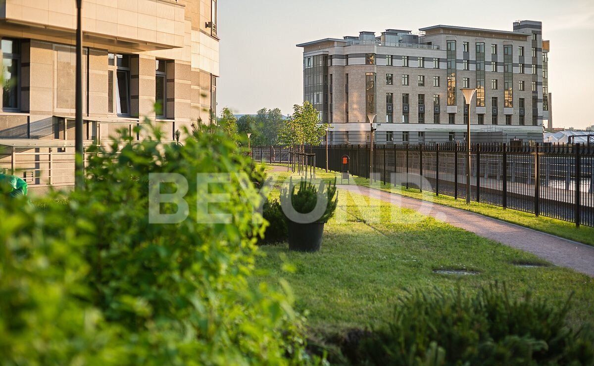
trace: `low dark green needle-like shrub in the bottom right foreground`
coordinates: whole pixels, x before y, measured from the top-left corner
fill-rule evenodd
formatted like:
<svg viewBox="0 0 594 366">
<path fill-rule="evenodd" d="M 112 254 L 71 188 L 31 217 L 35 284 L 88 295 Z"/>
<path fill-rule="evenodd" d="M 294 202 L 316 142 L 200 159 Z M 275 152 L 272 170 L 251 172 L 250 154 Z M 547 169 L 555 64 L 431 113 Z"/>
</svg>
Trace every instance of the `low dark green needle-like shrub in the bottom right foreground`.
<svg viewBox="0 0 594 366">
<path fill-rule="evenodd" d="M 566 325 L 569 304 L 555 308 L 529 293 L 512 301 L 497 284 L 477 295 L 414 292 L 396 306 L 387 329 L 360 343 L 358 362 L 591 365 L 594 334 Z"/>
</svg>

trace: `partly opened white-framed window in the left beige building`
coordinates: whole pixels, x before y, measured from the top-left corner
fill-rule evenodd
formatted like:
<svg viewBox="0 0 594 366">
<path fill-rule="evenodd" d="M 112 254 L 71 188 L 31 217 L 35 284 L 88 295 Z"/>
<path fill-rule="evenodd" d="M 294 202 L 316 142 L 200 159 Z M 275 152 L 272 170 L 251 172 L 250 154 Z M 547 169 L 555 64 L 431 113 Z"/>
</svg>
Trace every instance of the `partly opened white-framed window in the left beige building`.
<svg viewBox="0 0 594 366">
<path fill-rule="evenodd" d="M 130 114 L 130 56 L 108 55 L 109 112 L 129 116 Z"/>
</svg>

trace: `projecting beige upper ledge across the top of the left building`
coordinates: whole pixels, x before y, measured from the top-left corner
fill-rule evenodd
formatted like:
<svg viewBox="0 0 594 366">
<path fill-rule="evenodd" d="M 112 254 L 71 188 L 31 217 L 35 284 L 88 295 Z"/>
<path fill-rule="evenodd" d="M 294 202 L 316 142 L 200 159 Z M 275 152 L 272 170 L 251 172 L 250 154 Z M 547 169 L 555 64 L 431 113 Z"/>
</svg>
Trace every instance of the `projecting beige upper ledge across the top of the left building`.
<svg viewBox="0 0 594 366">
<path fill-rule="evenodd" d="M 185 6 L 175 0 L 83 1 L 84 42 L 138 51 L 184 46 Z M 5 0 L 0 30 L 14 36 L 53 40 L 71 37 L 76 29 L 75 1 Z M 4 32 L 3 32 L 4 33 Z"/>
</svg>

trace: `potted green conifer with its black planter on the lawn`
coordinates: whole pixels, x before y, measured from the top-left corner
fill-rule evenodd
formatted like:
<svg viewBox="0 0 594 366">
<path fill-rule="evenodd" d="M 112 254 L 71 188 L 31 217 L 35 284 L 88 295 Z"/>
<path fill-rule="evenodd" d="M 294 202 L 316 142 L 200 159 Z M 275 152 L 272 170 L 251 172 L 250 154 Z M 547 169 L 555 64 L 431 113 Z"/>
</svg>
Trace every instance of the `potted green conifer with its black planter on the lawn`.
<svg viewBox="0 0 594 366">
<path fill-rule="evenodd" d="M 289 188 L 280 195 L 289 228 L 289 249 L 317 252 L 322 244 L 324 224 L 336 210 L 336 179 L 328 184 L 323 180 L 319 187 L 302 179 L 299 190 L 295 189 L 296 186 L 290 180 Z"/>
</svg>

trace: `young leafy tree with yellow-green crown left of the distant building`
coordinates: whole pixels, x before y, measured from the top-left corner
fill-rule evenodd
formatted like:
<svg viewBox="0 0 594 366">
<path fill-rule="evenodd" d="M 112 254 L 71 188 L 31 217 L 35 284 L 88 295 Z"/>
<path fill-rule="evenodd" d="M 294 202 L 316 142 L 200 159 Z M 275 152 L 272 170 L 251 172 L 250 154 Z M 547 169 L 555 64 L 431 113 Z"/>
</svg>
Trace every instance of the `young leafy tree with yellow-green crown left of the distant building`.
<svg viewBox="0 0 594 366">
<path fill-rule="evenodd" d="M 297 145 L 305 151 L 305 145 L 317 145 L 330 125 L 321 123 L 318 111 L 309 101 L 293 106 L 293 115 L 280 129 L 280 141 L 285 145 Z"/>
</svg>

